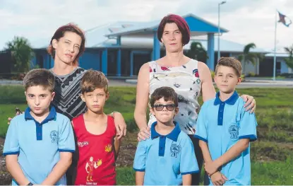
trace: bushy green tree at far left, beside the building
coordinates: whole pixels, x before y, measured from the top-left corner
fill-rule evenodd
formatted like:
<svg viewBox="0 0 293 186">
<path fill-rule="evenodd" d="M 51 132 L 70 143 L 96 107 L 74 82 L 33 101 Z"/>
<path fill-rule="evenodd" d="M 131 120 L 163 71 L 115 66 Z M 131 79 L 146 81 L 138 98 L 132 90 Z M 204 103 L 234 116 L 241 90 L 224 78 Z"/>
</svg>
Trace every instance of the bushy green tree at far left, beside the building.
<svg viewBox="0 0 293 186">
<path fill-rule="evenodd" d="M 30 69 L 34 52 L 25 37 L 14 37 L 11 42 L 6 43 L 6 50 L 11 53 L 11 71 L 26 72 Z"/>
</svg>

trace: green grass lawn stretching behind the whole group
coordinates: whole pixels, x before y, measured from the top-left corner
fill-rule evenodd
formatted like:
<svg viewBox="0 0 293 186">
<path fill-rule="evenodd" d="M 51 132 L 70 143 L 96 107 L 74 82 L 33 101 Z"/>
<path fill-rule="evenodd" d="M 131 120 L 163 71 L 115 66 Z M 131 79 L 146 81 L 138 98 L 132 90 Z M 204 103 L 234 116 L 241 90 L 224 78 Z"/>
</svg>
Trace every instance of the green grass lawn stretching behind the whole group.
<svg viewBox="0 0 293 186">
<path fill-rule="evenodd" d="M 121 112 L 128 124 L 128 135 L 121 147 L 117 163 L 118 185 L 133 185 L 131 168 L 136 148 L 136 124 L 133 110 L 136 88 L 110 87 L 106 113 Z M 253 185 L 293 185 L 293 89 L 241 88 L 238 93 L 256 98 L 258 141 L 251 144 L 251 176 Z M 202 100 L 200 100 L 202 103 Z M 25 110 L 21 86 L 0 86 L 0 135 L 5 137 L 7 118 L 15 115 L 15 107 Z M 128 162 L 128 163 L 125 163 Z"/>
</svg>

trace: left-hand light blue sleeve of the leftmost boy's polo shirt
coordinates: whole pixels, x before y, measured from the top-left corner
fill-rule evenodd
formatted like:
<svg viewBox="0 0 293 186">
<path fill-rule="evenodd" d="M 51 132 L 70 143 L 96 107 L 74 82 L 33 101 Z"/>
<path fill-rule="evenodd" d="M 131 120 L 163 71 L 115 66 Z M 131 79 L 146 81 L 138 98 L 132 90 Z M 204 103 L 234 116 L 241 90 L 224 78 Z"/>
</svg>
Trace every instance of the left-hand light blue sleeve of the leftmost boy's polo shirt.
<svg viewBox="0 0 293 186">
<path fill-rule="evenodd" d="M 18 122 L 12 119 L 5 138 L 3 155 L 11 155 L 19 153 L 18 143 Z"/>
</svg>

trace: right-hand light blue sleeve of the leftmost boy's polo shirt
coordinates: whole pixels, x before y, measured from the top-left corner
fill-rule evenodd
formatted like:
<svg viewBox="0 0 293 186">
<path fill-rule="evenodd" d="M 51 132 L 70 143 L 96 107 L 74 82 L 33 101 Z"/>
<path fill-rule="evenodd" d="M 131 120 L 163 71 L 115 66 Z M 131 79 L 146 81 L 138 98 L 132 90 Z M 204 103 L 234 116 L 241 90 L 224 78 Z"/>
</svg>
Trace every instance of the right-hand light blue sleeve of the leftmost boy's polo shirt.
<svg viewBox="0 0 293 186">
<path fill-rule="evenodd" d="M 65 117 L 61 129 L 59 129 L 58 150 L 59 152 L 74 152 L 76 150 L 73 129 L 68 117 Z"/>
</svg>

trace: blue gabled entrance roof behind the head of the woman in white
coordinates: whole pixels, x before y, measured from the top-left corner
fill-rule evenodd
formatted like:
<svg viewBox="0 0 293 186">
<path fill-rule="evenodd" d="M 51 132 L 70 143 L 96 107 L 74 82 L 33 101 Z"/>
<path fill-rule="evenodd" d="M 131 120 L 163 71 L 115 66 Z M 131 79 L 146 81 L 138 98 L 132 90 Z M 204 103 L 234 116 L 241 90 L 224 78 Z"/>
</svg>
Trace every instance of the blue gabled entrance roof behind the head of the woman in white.
<svg viewBox="0 0 293 186">
<path fill-rule="evenodd" d="M 189 24 L 189 28 L 191 32 L 203 32 L 205 33 L 217 33 L 217 25 L 205 21 L 203 18 L 199 18 L 192 13 L 187 14 L 186 16 L 182 16 L 185 18 L 186 22 Z M 131 33 L 153 33 L 154 30 L 157 30 L 161 20 L 150 21 L 147 23 L 139 24 L 133 27 L 124 28 L 122 30 L 118 30 L 114 33 L 106 34 L 105 36 L 119 36 L 119 35 L 129 35 Z M 220 28 L 220 33 L 227 33 L 228 30 L 225 28 Z"/>
</svg>

